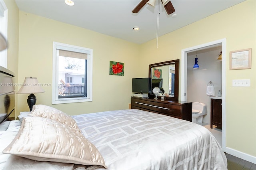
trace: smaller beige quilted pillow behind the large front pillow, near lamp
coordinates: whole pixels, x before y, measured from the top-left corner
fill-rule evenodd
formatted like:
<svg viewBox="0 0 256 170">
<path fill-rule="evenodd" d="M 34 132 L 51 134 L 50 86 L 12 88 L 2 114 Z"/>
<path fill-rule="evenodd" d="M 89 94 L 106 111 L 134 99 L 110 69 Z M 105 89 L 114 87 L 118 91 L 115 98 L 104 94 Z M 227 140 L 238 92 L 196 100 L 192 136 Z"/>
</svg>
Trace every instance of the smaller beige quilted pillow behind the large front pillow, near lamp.
<svg viewBox="0 0 256 170">
<path fill-rule="evenodd" d="M 80 131 L 76 124 L 76 121 L 71 116 L 50 106 L 34 105 L 31 113 L 28 114 L 28 116 L 37 116 L 52 119 Z"/>
</svg>

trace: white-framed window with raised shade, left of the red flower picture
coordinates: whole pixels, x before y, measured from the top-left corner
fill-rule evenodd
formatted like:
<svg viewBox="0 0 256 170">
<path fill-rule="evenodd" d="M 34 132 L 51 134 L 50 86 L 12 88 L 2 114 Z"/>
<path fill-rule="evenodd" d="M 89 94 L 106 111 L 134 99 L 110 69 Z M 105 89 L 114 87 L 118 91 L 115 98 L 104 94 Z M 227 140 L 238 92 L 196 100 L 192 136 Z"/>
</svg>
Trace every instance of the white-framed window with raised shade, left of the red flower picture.
<svg viewBox="0 0 256 170">
<path fill-rule="evenodd" d="M 52 104 L 92 101 L 92 49 L 53 42 Z"/>
</svg>

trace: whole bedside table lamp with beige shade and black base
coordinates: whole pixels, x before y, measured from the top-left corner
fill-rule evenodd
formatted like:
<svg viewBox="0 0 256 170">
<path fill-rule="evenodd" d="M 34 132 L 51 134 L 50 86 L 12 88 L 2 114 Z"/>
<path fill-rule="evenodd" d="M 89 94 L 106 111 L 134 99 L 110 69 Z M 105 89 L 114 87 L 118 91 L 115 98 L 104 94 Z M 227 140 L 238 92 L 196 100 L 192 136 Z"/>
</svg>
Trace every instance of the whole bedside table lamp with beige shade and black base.
<svg viewBox="0 0 256 170">
<path fill-rule="evenodd" d="M 36 77 L 25 77 L 23 86 L 20 88 L 17 94 L 30 94 L 27 102 L 30 111 L 32 111 L 33 105 L 36 104 L 36 96 L 33 93 L 44 93 L 41 84 Z"/>
</svg>

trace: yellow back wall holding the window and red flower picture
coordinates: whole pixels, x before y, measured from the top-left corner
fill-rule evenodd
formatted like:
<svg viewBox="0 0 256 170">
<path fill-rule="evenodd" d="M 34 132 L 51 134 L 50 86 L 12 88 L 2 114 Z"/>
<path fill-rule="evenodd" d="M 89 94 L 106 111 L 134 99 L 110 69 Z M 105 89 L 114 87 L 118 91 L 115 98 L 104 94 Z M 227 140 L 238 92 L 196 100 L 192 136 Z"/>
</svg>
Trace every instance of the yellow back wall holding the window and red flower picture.
<svg viewBox="0 0 256 170">
<path fill-rule="evenodd" d="M 93 101 L 52 105 L 52 87 L 36 94 L 37 104 L 50 105 L 70 115 L 128 109 L 132 77 L 136 75 L 138 45 L 34 14 L 20 11 L 19 77 L 52 83 L 53 42 L 93 49 Z M 109 75 L 109 61 L 124 63 L 124 76 Z M 29 111 L 28 95 L 18 95 L 18 113 Z"/>
</svg>

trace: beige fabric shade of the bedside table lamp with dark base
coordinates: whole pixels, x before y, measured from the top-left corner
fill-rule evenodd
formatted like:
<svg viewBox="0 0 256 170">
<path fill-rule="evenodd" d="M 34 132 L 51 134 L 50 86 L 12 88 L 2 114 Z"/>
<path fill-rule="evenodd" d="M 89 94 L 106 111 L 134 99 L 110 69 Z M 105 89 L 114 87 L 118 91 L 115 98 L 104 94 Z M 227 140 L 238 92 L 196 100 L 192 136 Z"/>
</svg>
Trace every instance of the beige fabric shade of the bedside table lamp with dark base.
<svg viewBox="0 0 256 170">
<path fill-rule="evenodd" d="M 36 77 L 25 77 L 24 83 L 17 94 L 44 93 L 42 84 Z"/>
</svg>

